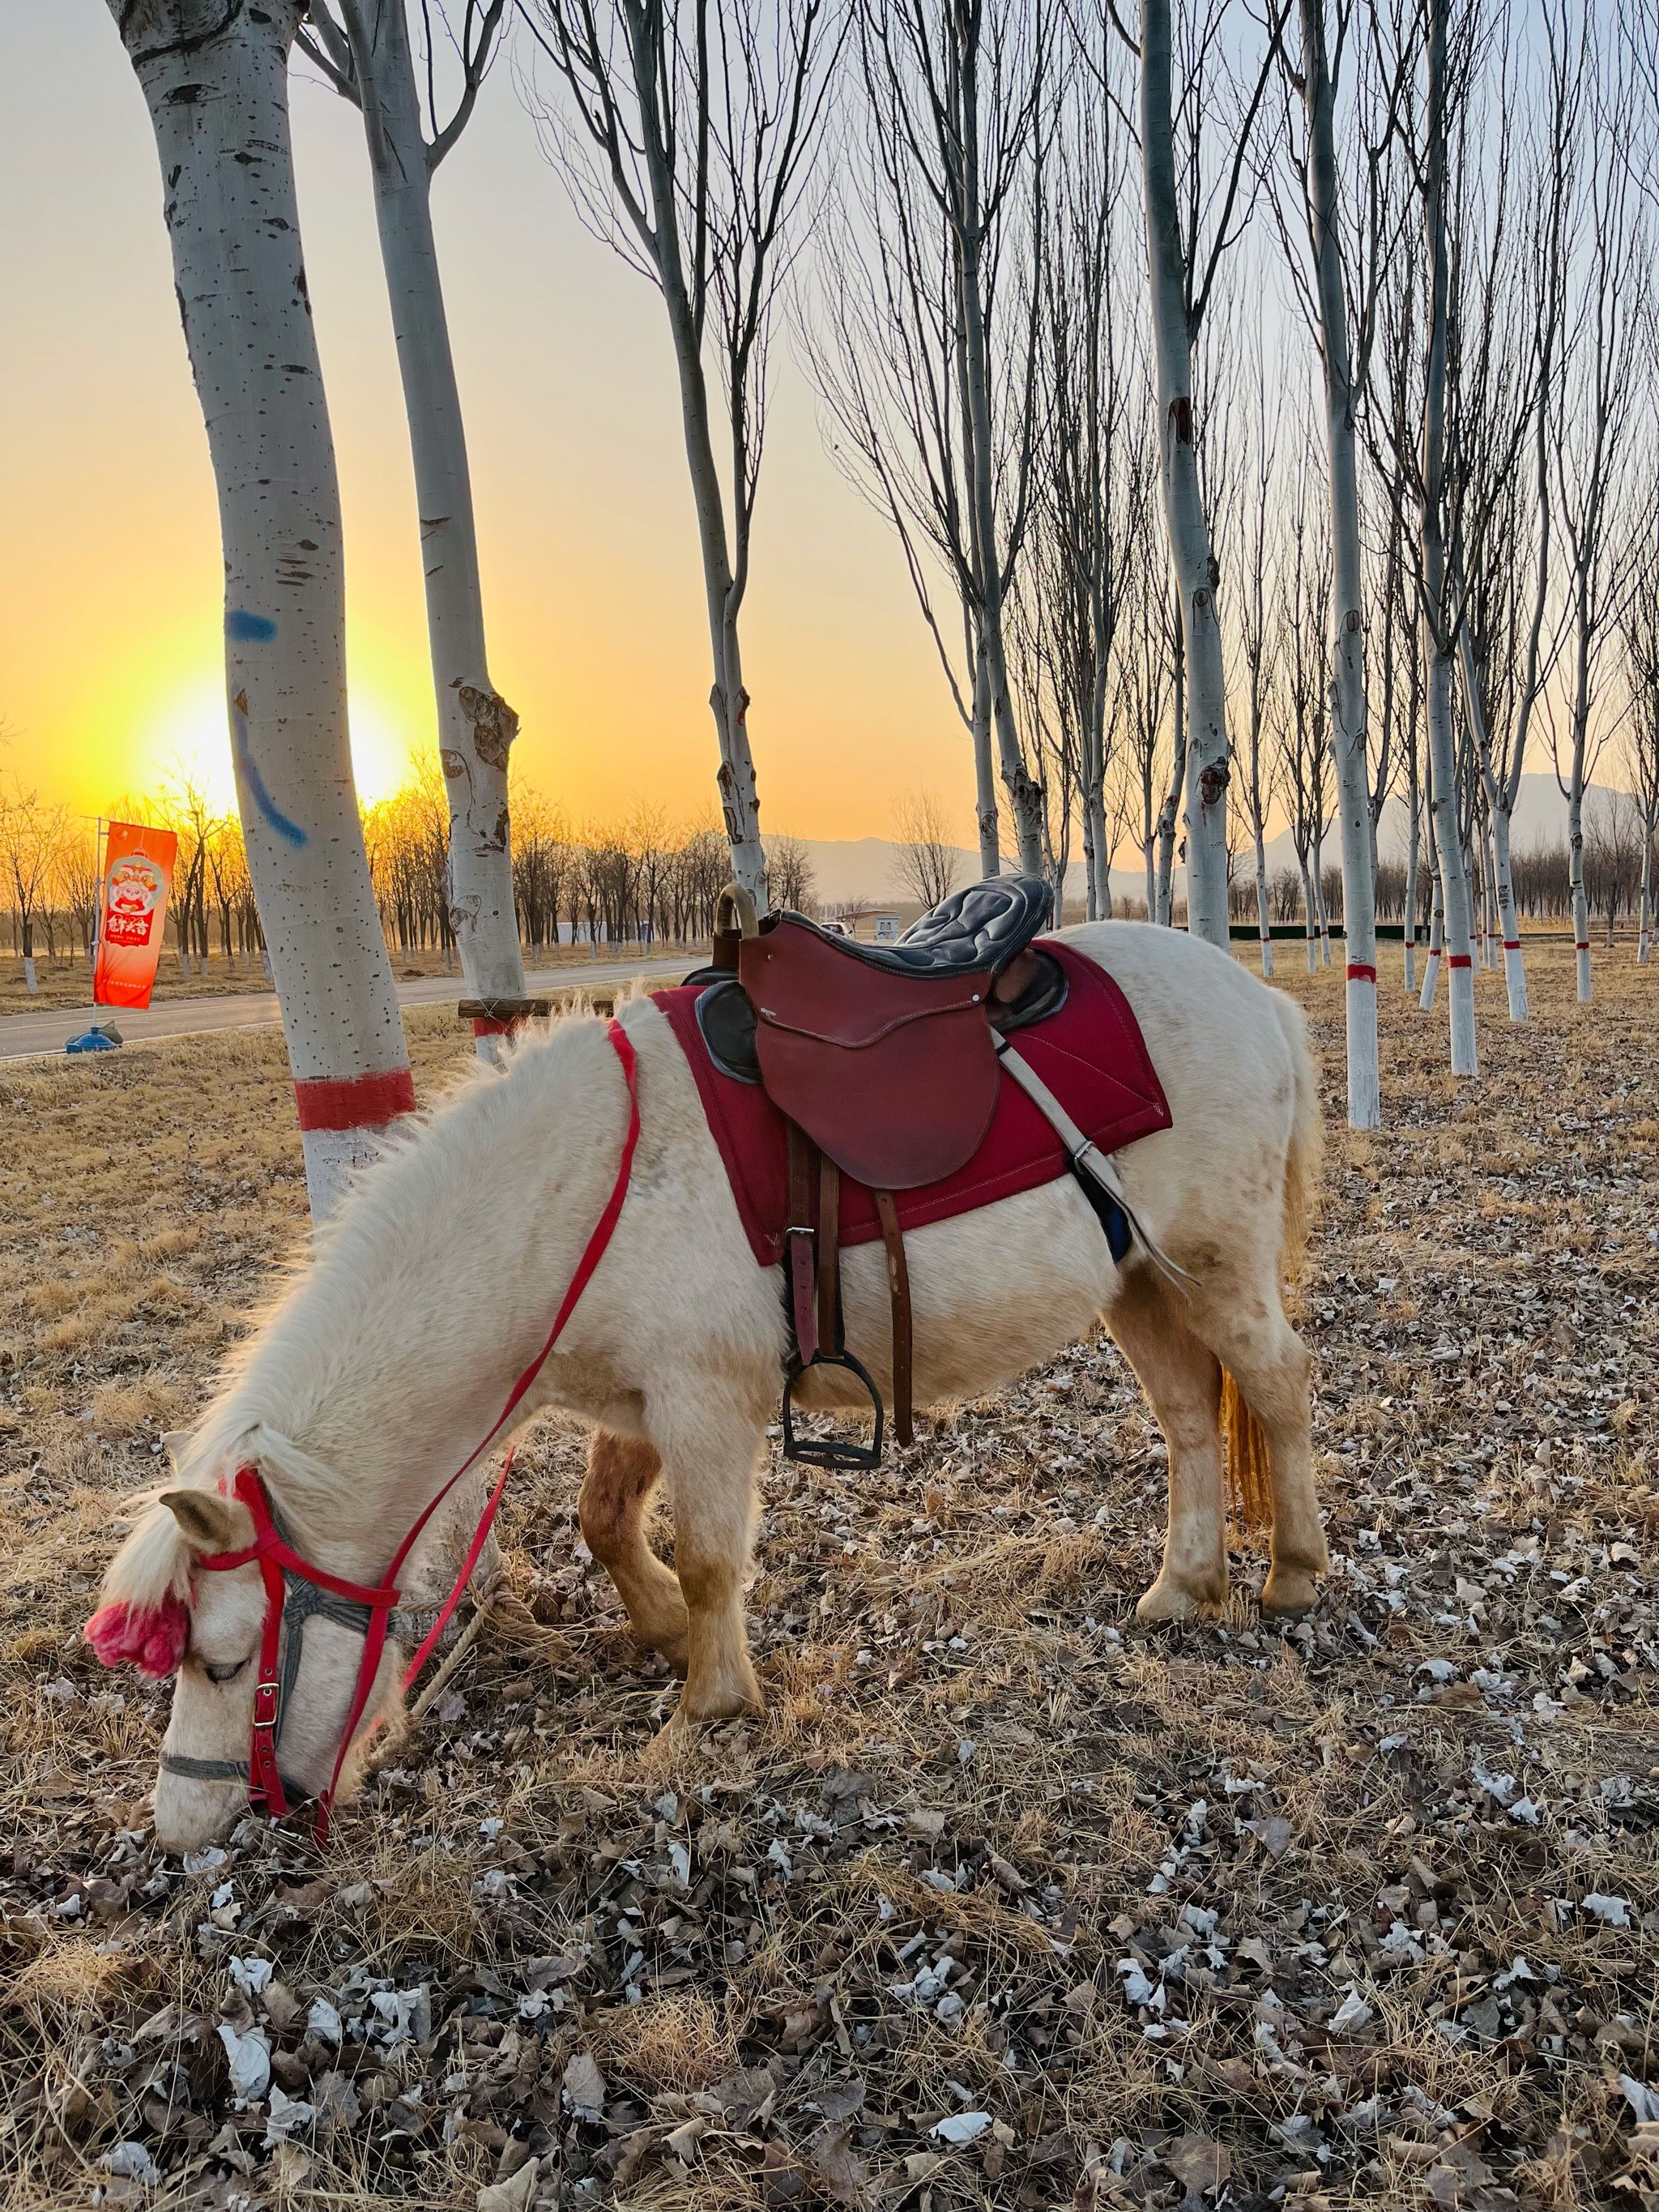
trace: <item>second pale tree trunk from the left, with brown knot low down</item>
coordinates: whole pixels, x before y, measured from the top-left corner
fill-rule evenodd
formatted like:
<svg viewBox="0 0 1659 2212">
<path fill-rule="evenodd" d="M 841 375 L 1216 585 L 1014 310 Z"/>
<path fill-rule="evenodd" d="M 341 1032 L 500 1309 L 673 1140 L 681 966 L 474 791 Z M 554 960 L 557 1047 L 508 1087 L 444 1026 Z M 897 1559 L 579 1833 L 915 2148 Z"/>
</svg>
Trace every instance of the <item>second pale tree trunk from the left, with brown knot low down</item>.
<svg viewBox="0 0 1659 2212">
<path fill-rule="evenodd" d="M 467 431 L 449 349 L 431 173 L 403 0 L 343 0 L 409 416 L 438 748 L 449 794 L 449 927 L 471 998 L 522 1000 L 507 757 L 518 714 L 489 679 Z M 495 1055 L 495 1037 L 478 1035 Z"/>
</svg>

